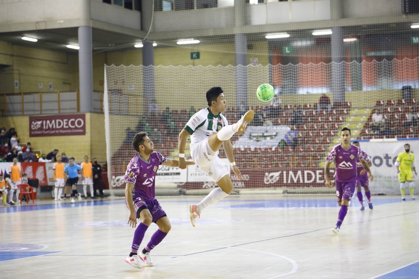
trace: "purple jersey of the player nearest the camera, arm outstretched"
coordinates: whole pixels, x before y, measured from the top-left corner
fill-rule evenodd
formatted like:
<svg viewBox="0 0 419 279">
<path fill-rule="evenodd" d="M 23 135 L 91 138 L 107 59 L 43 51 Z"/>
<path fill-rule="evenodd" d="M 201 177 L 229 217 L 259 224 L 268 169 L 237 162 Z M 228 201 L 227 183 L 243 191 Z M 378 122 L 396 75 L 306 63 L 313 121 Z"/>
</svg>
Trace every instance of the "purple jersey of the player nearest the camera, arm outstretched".
<svg viewBox="0 0 419 279">
<path fill-rule="evenodd" d="M 125 183 L 134 184 L 134 197 L 141 197 L 147 202 L 154 200 L 154 183 L 158 166 L 165 163 L 167 158 L 159 152 L 150 154 L 148 163 L 137 153 L 129 161 L 125 173 Z"/>
</svg>

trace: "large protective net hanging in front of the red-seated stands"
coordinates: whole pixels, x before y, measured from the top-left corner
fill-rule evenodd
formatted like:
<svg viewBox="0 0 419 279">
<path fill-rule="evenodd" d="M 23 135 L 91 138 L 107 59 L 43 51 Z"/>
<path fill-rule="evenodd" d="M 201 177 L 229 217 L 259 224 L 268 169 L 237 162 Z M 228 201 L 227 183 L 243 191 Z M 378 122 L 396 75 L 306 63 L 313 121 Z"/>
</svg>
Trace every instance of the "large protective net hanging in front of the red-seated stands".
<svg viewBox="0 0 419 279">
<path fill-rule="evenodd" d="M 111 194 L 124 195 L 124 173 L 135 154 L 134 134 L 146 131 L 156 151 L 178 158 L 178 134 L 191 115 L 207 106 L 205 92 L 213 86 L 225 92 L 228 109 L 223 114 L 229 123 L 248 108 L 256 111 L 246 132 L 231 139 L 243 174 L 241 181 L 232 177 L 233 193 L 334 192 L 324 187 L 323 166 L 345 126 L 373 157 L 373 174 L 380 177 L 374 193 L 398 193 L 392 163 L 406 139 L 416 144 L 414 138 L 419 137 L 418 70 L 419 58 L 266 66 L 105 66 Z M 272 102 L 257 99 L 256 88 L 262 83 L 274 86 L 277 95 Z M 342 92 L 333 90 L 339 87 Z M 378 139 L 387 145 L 374 143 Z M 189 141 L 185 153 L 190 158 Z M 220 158 L 225 158 L 222 150 Z M 157 195 L 200 195 L 213 187 L 194 166 L 160 166 L 156 177 Z"/>
</svg>

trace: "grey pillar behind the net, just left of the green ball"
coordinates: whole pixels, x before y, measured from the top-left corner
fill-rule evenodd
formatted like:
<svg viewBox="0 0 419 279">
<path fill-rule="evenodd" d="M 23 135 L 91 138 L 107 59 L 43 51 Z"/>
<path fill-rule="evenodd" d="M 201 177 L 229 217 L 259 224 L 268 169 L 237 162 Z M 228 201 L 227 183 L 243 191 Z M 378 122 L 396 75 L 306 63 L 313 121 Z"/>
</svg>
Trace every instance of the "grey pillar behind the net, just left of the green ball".
<svg viewBox="0 0 419 279">
<path fill-rule="evenodd" d="M 234 23 L 236 27 L 246 24 L 247 3 L 243 0 L 234 0 Z M 241 103 L 247 107 L 247 38 L 246 34 L 235 34 L 235 82 L 236 82 L 236 108 Z"/>
</svg>

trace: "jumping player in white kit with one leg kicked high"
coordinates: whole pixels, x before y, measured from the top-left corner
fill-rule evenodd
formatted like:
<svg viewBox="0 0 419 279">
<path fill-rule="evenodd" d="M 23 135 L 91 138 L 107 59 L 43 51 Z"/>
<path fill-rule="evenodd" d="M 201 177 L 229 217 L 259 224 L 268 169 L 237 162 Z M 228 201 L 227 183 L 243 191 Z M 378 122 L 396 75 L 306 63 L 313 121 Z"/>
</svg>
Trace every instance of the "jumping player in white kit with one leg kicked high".
<svg viewBox="0 0 419 279">
<path fill-rule="evenodd" d="M 189 205 L 189 218 L 194 227 L 205 207 L 227 197 L 233 190 L 233 183 L 225 164 L 217 156 L 221 146 L 224 147 L 234 175 L 241 179 L 241 173 L 235 165 L 230 138 L 235 133 L 243 133 L 255 115 L 253 110 L 249 110 L 237 123 L 228 125 L 227 119 L 221 114 L 227 108 L 221 87 L 212 87 L 207 91 L 207 103 L 208 107 L 195 113 L 179 134 L 179 167 L 186 169 L 185 144 L 186 138 L 191 135 L 192 160 L 219 186 L 198 205 Z"/>
</svg>

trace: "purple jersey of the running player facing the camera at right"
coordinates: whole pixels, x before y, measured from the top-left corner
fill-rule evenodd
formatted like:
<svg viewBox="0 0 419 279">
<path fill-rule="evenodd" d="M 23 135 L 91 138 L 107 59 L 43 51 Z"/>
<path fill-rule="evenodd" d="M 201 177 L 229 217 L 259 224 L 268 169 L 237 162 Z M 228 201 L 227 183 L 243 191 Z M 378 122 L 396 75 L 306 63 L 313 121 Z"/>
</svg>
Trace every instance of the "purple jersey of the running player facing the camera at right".
<svg viewBox="0 0 419 279">
<path fill-rule="evenodd" d="M 357 160 L 364 159 L 359 147 L 351 146 L 346 150 L 341 144 L 334 146 L 326 156 L 328 162 L 335 162 L 336 180 L 352 182 L 357 180 Z"/>
</svg>

